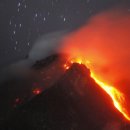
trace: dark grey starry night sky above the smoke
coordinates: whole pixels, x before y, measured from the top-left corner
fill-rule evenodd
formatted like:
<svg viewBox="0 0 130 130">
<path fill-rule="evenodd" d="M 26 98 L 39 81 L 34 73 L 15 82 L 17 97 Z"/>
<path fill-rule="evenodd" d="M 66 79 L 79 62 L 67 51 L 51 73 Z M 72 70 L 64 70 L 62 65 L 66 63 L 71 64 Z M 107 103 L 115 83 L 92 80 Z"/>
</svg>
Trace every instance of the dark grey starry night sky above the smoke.
<svg viewBox="0 0 130 130">
<path fill-rule="evenodd" d="M 100 11 L 128 3 L 125 0 L 0 0 L 0 67 L 24 58 L 40 36 L 75 29 Z"/>
</svg>

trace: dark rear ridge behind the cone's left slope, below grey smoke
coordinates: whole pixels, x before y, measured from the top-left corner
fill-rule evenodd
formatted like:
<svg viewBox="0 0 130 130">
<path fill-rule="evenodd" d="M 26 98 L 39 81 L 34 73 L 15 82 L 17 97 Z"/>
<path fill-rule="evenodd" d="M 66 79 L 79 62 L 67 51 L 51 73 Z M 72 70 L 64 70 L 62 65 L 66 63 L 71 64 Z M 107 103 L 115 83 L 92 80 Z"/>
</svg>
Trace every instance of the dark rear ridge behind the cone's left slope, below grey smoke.
<svg viewBox="0 0 130 130">
<path fill-rule="evenodd" d="M 54 54 L 36 61 L 25 70 L 19 68 L 19 73 L 13 72 L 15 68 L 11 69 L 10 76 L 5 81 L 0 82 L 0 125 L 14 107 L 36 96 L 35 90 L 42 92 L 53 86 L 64 74 L 63 65 L 65 62 L 65 56 Z M 8 74 L 8 71 L 5 73 Z"/>
</svg>

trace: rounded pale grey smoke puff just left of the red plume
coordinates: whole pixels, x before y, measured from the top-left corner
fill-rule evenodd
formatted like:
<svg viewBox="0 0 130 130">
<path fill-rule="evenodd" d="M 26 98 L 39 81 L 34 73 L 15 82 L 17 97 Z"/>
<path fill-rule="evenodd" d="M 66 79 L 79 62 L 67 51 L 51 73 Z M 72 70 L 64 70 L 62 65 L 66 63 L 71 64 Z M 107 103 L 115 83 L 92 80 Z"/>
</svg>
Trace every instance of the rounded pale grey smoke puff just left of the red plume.
<svg viewBox="0 0 130 130">
<path fill-rule="evenodd" d="M 29 53 L 29 59 L 36 61 L 55 53 L 61 44 L 61 38 L 65 34 L 65 31 L 54 32 L 38 39 Z"/>
</svg>

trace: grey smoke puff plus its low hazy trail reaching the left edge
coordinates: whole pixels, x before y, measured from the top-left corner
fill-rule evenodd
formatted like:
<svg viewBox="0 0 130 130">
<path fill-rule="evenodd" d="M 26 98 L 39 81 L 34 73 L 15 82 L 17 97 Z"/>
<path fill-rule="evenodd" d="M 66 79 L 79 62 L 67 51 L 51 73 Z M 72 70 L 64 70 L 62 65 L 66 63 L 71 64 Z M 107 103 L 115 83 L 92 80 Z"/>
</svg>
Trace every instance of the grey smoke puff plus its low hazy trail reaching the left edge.
<svg viewBox="0 0 130 130">
<path fill-rule="evenodd" d="M 23 75 L 28 72 L 29 68 L 36 61 L 56 53 L 60 47 L 60 40 L 65 36 L 67 31 L 58 31 L 49 33 L 39 38 L 32 46 L 27 59 L 17 61 L 0 70 L 0 82 L 17 75 Z M 23 71 L 24 70 L 24 71 Z"/>
</svg>

